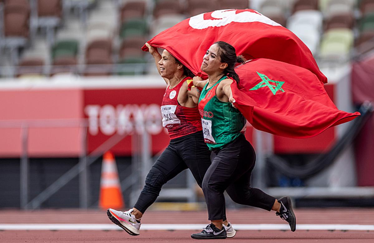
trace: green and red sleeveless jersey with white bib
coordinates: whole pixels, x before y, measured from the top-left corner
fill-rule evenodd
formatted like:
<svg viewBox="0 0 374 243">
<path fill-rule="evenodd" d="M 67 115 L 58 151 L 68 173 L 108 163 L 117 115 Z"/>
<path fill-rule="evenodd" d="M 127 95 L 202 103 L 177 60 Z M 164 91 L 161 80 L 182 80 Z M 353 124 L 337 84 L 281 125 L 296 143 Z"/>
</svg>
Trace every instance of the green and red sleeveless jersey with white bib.
<svg viewBox="0 0 374 243">
<path fill-rule="evenodd" d="M 246 119 L 239 110 L 216 96 L 218 84 L 226 78 L 222 77 L 210 88 L 206 88 L 207 83 L 200 94 L 199 112 L 204 140 L 209 149 L 222 148 L 239 137 L 246 124 Z"/>
</svg>

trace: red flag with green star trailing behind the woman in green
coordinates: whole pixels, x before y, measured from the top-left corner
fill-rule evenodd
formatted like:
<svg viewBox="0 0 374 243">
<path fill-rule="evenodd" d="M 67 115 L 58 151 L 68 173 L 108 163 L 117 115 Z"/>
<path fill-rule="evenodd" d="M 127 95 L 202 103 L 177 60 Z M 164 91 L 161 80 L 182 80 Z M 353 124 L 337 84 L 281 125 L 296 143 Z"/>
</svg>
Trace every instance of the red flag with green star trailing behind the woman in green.
<svg viewBox="0 0 374 243">
<path fill-rule="evenodd" d="M 299 66 L 260 58 L 235 70 L 234 105 L 258 130 L 307 138 L 360 115 L 338 110 L 317 76 Z"/>
</svg>

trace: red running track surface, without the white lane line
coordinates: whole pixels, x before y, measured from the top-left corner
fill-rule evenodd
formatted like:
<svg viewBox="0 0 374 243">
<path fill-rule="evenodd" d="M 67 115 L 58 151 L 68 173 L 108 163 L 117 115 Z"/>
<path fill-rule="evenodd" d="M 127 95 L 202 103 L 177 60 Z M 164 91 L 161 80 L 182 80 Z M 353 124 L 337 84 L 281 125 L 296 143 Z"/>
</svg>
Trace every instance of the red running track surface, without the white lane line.
<svg viewBox="0 0 374 243">
<path fill-rule="evenodd" d="M 374 209 L 296 209 L 298 224 L 373 224 Z M 258 209 L 228 211 L 235 224 L 282 224 L 273 212 Z M 143 224 L 207 224 L 206 211 L 147 212 Z M 0 224 L 87 223 L 110 224 L 105 211 L 43 210 L 0 211 Z M 129 236 L 125 231 L 0 231 L 0 242 L 191 242 L 195 231 L 141 231 Z M 374 231 L 238 231 L 232 242 L 374 242 Z"/>
</svg>

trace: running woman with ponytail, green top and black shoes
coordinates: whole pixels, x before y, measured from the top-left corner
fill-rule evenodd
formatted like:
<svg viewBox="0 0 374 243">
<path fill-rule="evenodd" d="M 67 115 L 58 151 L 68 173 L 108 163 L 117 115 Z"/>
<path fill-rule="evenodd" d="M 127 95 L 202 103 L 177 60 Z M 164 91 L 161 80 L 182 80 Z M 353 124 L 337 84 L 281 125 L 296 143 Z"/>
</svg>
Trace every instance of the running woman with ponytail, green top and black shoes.
<svg viewBox="0 0 374 243">
<path fill-rule="evenodd" d="M 203 57 L 201 70 L 208 74 L 208 80 L 193 78 L 193 84 L 202 88 L 199 97 L 199 112 L 202 120 L 203 135 L 215 158 L 205 173 L 202 189 L 208 206 L 211 224 L 193 239 L 225 239 L 227 233 L 222 227 L 225 215 L 226 190 L 234 202 L 274 210 L 276 215 L 286 220 L 295 231 L 296 218 L 292 211 L 291 199 L 282 197 L 277 200 L 260 189 L 250 186 L 252 170 L 255 166 L 255 151 L 242 131 L 245 131 L 246 119 L 234 108 L 232 82 L 239 83 L 234 67 L 244 63 L 236 56 L 233 46 L 218 41 Z"/>
</svg>

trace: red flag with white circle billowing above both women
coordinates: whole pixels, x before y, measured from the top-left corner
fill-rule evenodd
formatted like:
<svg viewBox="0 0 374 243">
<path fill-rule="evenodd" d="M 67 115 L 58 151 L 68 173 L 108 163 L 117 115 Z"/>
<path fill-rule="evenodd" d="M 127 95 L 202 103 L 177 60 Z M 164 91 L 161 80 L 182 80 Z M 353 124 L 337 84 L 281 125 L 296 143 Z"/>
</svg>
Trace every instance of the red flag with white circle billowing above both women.
<svg viewBox="0 0 374 243">
<path fill-rule="evenodd" d="M 166 29 L 148 43 L 168 50 L 194 74 L 206 50 L 226 41 L 247 60 L 268 58 L 308 69 L 326 83 L 308 47 L 294 33 L 252 9 L 216 10 L 202 13 Z M 147 50 L 146 46 L 142 50 Z"/>
</svg>

